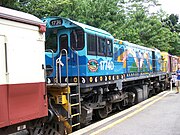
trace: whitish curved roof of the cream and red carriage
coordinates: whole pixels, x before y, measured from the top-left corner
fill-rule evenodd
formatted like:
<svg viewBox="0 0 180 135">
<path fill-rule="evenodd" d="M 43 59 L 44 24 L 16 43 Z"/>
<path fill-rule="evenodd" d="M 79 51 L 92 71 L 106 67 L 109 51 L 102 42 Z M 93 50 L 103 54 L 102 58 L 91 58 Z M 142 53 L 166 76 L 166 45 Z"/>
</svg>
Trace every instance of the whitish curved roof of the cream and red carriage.
<svg viewBox="0 0 180 135">
<path fill-rule="evenodd" d="M 23 22 L 31 25 L 39 25 L 42 21 L 34 15 L 0 6 L 0 18 Z"/>
</svg>

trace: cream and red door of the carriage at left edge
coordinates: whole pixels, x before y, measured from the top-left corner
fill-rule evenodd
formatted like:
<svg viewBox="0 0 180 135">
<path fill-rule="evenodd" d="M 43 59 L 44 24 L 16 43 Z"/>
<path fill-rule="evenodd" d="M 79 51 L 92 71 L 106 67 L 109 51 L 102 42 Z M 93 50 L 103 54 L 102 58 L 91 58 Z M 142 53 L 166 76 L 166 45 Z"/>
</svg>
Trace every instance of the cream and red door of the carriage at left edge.
<svg viewBox="0 0 180 135">
<path fill-rule="evenodd" d="M 7 48 L 5 36 L 0 35 L 0 128 L 8 125 Z"/>
</svg>

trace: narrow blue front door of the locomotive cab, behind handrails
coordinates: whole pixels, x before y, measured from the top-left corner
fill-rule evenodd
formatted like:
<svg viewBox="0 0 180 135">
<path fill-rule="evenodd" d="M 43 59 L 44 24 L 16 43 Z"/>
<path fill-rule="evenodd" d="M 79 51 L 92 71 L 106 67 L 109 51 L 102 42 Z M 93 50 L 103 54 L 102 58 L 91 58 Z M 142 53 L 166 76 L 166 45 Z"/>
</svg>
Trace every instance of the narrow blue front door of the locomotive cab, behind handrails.
<svg viewBox="0 0 180 135">
<path fill-rule="evenodd" d="M 62 58 L 61 61 L 63 63 L 63 67 L 62 67 L 62 78 L 66 78 L 67 76 L 67 70 L 66 70 L 66 62 L 68 62 L 68 75 L 71 75 L 71 70 L 69 70 L 69 68 L 71 67 L 71 61 L 70 61 L 70 37 L 69 37 L 69 31 L 68 30 L 63 30 L 59 32 L 59 48 L 60 48 L 60 53 L 62 53 Z M 66 59 L 66 54 L 65 51 L 61 51 L 62 49 L 66 49 L 67 50 L 67 55 L 68 55 L 68 59 Z M 64 80 L 62 79 L 62 80 Z"/>
</svg>

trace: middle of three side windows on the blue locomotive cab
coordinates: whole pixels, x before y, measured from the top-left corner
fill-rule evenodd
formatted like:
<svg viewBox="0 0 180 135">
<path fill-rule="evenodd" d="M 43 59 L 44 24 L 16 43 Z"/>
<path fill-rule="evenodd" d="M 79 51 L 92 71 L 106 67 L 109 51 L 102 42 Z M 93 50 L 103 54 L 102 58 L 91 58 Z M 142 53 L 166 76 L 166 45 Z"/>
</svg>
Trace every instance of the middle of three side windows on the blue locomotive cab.
<svg viewBox="0 0 180 135">
<path fill-rule="evenodd" d="M 98 37 L 98 55 L 105 56 L 106 55 L 106 42 L 105 38 Z"/>
</svg>

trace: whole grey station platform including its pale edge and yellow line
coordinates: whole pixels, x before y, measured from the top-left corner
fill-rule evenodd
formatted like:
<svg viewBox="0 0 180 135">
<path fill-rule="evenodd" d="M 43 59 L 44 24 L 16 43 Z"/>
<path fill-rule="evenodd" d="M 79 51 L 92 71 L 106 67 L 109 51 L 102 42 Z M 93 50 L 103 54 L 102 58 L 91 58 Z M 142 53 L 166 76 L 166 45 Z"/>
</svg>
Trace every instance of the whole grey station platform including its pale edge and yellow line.
<svg viewBox="0 0 180 135">
<path fill-rule="evenodd" d="M 161 92 L 71 135 L 180 135 L 180 93 Z"/>
</svg>

